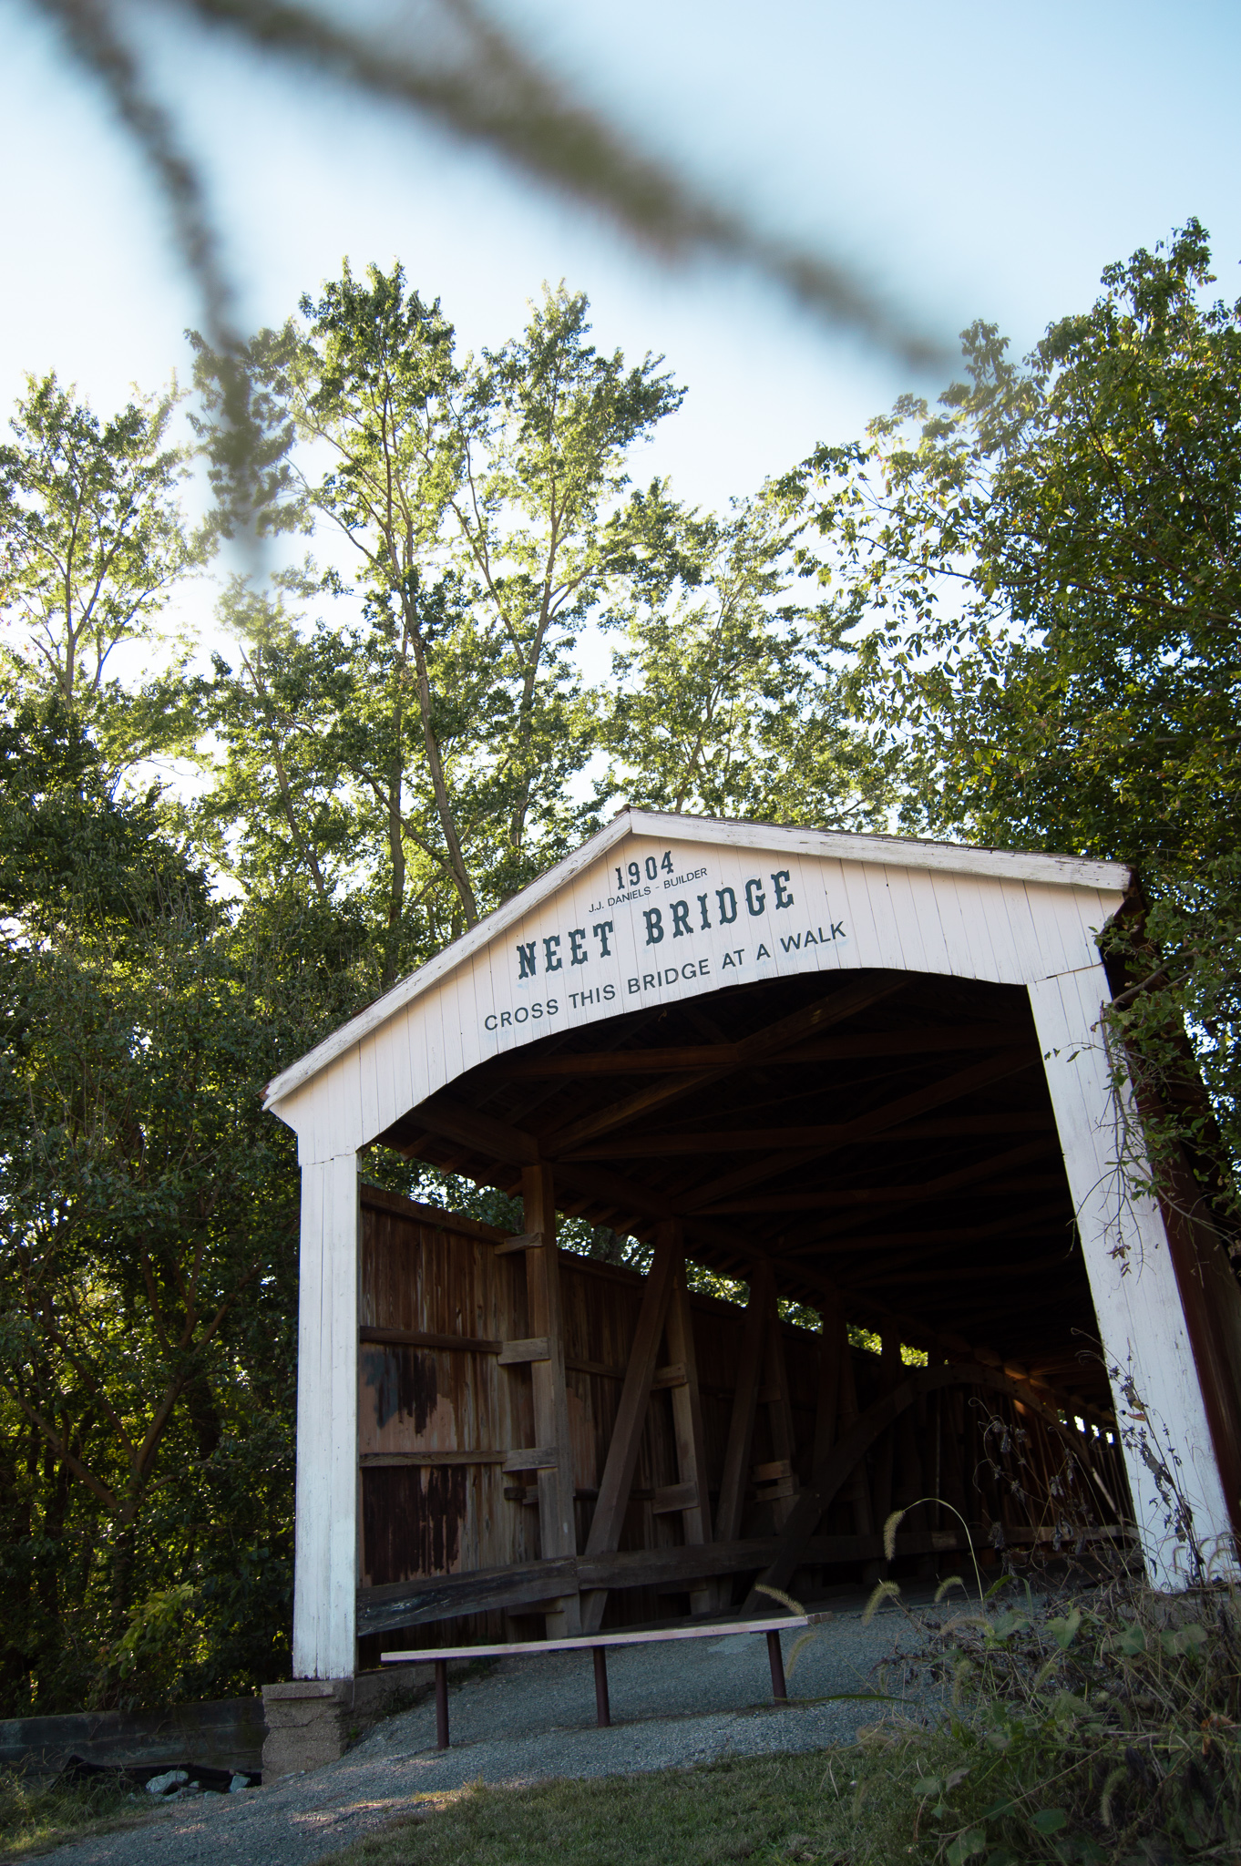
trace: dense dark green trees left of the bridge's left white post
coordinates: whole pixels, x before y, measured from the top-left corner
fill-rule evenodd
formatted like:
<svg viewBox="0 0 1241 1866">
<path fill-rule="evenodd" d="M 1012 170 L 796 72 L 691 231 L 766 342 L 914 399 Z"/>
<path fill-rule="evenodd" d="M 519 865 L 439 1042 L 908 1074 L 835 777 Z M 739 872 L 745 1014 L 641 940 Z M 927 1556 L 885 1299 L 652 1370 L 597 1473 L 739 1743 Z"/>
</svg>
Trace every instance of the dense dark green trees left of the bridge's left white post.
<svg viewBox="0 0 1241 1866">
<path fill-rule="evenodd" d="M 297 1269 L 261 1086 L 355 980 L 317 926 L 216 903 L 63 696 L 0 739 L 0 1678 L 15 1709 L 252 1687 L 284 1663 Z"/>
</svg>

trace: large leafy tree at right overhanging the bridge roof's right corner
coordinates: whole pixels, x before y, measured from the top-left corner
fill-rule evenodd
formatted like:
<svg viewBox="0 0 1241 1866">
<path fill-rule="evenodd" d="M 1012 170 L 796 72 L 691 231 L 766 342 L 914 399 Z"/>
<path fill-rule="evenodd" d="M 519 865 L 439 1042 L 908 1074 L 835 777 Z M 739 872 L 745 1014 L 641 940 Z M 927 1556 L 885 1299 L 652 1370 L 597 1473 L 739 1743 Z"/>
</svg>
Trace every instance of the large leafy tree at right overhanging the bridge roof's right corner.
<svg viewBox="0 0 1241 1866">
<path fill-rule="evenodd" d="M 1191 220 L 1109 267 L 1023 366 L 970 327 L 937 411 L 905 399 L 789 483 L 905 821 L 1138 866 L 1127 963 L 1155 989 L 1116 1036 L 1235 1215 L 1241 302 L 1206 300 L 1211 282 Z"/>
</svg>

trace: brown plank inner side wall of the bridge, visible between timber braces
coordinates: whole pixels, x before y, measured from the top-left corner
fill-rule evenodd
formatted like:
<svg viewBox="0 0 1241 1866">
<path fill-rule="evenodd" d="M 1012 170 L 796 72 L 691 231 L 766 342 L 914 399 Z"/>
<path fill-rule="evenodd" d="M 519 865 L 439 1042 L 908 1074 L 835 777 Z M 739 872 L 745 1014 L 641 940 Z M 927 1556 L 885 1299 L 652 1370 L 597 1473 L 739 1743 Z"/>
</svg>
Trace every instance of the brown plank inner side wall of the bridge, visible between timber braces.
<svg viewBox="0 0 1241 1866">
<path fill-rule="evenodd" d="M 384 1588 L 431 1575 L 526 1567 L 539 1547 L 537 1472 L 508 1469 L 515 1448 L 534 1446 L 532 1368 L 504 1360 L 504 1345 L 526 1353 L 530 1312 L 524 1252 L 496 1250 L 500 1233 L 468 1218 L 409 1207 L 362 1189 L 362 1276 L 358 1347 L 360 1588 Z M 634 1271 L 562 1252 L 564 1351 L 569 1441 L 573 1450 L 577 1549 L 590 1536 L 595 1497 L 616 1422 L 646 1278 Z M 746 1310 L 690 1295 L 692 1340 L 702 1401 L 702 1444 L 711 1519 L 717 1519 L 737 1375 L 743 1366 Z M 842 1437 L 890 1383 L 894 1370 L 877 1355 L 842 1355 L 840 1317 L 832 1336 L 776 1323 L 763 1345 L 752 1441 L 743 1478 L 745 1502 L 733 1534 L 774 1538 L 799 1483 L 810 1482 L 817 1441 Z M 661 1351 L 662 1353 L 662 1351 Z M 782 1360 L 782 1368 L 780 1362 Z M 774 1362 L 774 1379 L 773 1379 Z M 829 1379 L 830 1372 L 830 1379 Z M 676 1368 L 666 1370 L 676 1379 Z M 620 1551 L 674 1549 L 685 1541 L 677 1506 L 677 1433 L 672 1386 L 651 1394 Z M 985 1437 L 989 1418 L 1000 1418 Z M 972 1407 L 965 1392 L 931 1396 L 875 1446 L 866 1467 L 825 1513 L 814 1545 L 817 1575 L 857 1577 L 866 1553 L 877 1571 L 879 1530 L 892 1506 L 935 1491 L 980 1525 L 1028 1538 L 1028 1510 L 1011 1483 L 987 1478 L 1000 1441 L 1047 1478 L 1062 1454 L 1045 1448 L 1032 1416 L 991 1396 Z M 1026 1452 L 1028 1444 L 1028 1452 Z M 1118 1450 L 1095 1441 L 1114 1495 L 1125 1495 Z M 1043 1470 L 1047 1467 L 1047 1470 Z M 983 1482 L 976 1476 L 983 1470 Z M 970 1476 L 974 1474 L 974 1476 Z M 662 1498 L 659 1493 L 666 1493 Z M 1101 1511 L 1109 1515 L 1109 1511 Z M 955 1521 L 924 1506 L 905 1530 L 927 1547 L 955 1543 Z M 860 1538 L 868 1538 L 862 1547 Z M 918 1543 L 918 1545 L 920 1545 Z M 909 1543 L 913 1545 L 913 1543 Z M 732 1582 L 718 1603 L 732 1599 Z M 547 1603 L 551 1608 L 551 1603 Z M 679 1594 L 653 1586 L 614 1588 L 605 1625 L 633 1625 L 685 1612 Z M 702 1595 L 696 1595 L 702 1610 Z M 360 1642 L 360 1663 L 381 1648 L 541 1636 L 543 1608 L 496 1608 Z"/>
</svg>

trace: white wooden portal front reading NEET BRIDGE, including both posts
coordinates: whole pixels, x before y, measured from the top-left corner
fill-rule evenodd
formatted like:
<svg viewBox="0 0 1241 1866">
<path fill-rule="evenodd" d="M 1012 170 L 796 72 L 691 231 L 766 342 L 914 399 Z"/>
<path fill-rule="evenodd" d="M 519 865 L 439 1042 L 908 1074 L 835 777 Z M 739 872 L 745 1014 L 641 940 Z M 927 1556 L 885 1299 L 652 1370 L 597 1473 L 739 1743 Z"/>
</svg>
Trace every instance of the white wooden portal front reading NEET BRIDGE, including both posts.
<svg viewBox="0 0 1241 1866">
<path fill-rule="evenodd" d="M 358 1149 L 480 1062 L 554 1030 L 732 983 L 890 968 L 1025 985 L 1122 1426 L 1181 1457 L 1207 1547 L 1232 1549 L 1163 1218 L 1122 1194 L 1095 935 L 1118 864 L 621 812 L 267 1092 L 302 1170 L 293 1672 L 355 1670 Z M 1151 1579 L 1181 1584 L 1150 1469 L 1127 1452 Z"/>
</svg>

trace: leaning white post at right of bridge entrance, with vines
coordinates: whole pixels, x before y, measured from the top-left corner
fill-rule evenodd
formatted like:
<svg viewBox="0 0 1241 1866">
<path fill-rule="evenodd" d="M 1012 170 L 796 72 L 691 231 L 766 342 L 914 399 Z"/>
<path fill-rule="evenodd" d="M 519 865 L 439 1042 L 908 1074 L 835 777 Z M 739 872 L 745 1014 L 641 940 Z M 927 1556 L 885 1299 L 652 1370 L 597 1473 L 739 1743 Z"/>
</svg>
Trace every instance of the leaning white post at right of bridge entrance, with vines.
<svg viewBox="0 0 1241 1866">
<path fill-rule="evenodd" d="M 1101 965 L 1030 985 L 1103 1353 L 1116 1370 L 1112 1407 L 1146 1571 L 1151 1586 L 1176 1592 L 1192 1579 L 1192 1566 L 1157 1467 L 1166 1467 L 1189 1504 L 1211 1573 L 1237 1571 L 1234 1534 L 1163 1215 L 1125 1183 L 1122 1157 L 1133 1159 L 1135 1146 L 1131 1136 L 1122 1148 L 1099 1028 L 1109 996 Z"/>
</svg>

